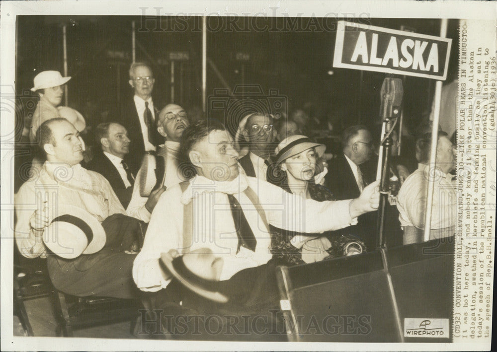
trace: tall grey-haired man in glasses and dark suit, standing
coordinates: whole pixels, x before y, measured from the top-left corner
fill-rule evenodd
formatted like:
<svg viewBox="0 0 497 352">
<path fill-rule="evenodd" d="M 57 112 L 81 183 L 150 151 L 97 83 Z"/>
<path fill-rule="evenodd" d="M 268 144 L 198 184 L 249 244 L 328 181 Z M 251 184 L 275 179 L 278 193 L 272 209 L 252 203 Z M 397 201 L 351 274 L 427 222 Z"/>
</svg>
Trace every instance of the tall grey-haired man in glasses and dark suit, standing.
<svg viewBox="0 0 497 352">
<path fill-rule="evenodd" d="M 155 78 L 151 68 L 145 63 L 133 63 L 129 70 L 129 84 L 133 88 L 132 101 L 120 106 L 114 119 L 123 125 L 133 143 L 127 162 L 133 172 L 138 171 L 143 155 L 155 151 L 164 139 L 157 133 L 156 116 L 158 110 L 152 100 Z"/>
</svg>

